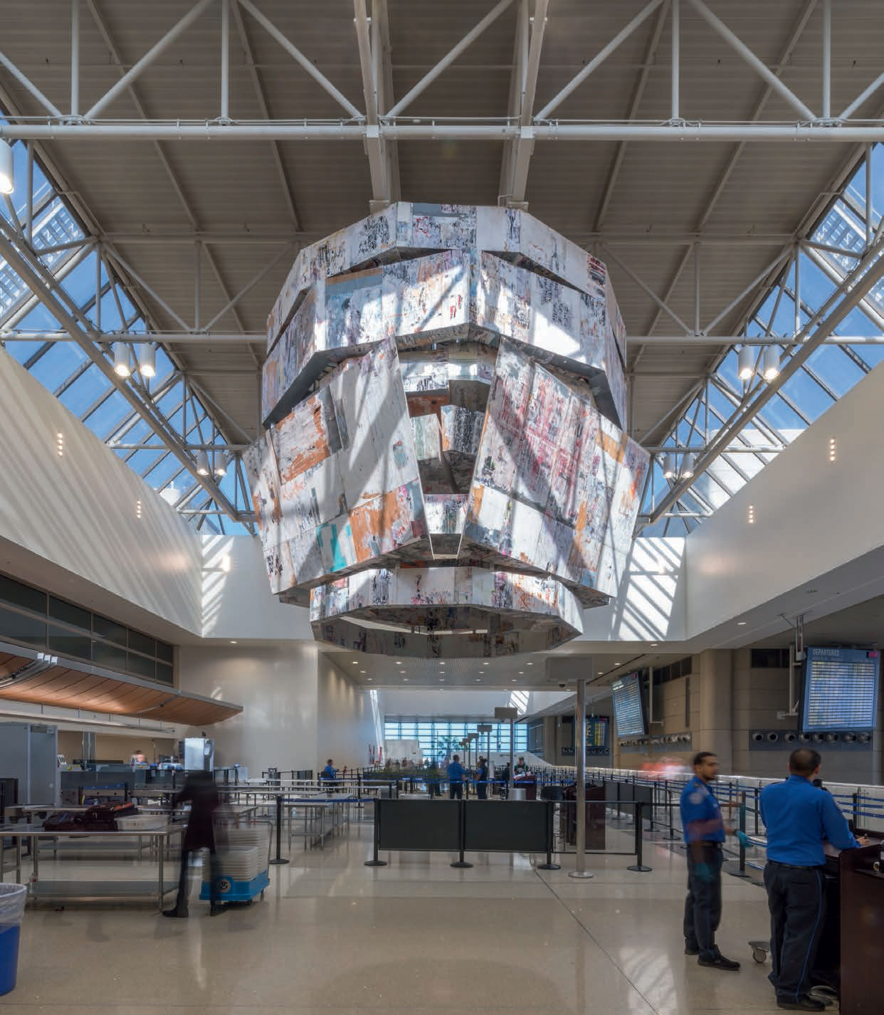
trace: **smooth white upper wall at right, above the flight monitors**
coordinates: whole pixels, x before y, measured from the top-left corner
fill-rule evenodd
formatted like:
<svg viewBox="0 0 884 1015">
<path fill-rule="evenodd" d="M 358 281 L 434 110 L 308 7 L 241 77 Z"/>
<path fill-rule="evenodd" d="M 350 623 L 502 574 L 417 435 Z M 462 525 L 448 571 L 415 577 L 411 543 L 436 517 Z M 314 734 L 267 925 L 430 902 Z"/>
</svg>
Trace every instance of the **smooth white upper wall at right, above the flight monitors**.
<svg viewBox="0 0 884 1015">
<path fill-rule="evenodd" d="M 884 545 L 882 404 L 877 367 L 691 533 L 688 636 Z M 877 569 L 867 576 L 876 577 Z"/>
</svg>

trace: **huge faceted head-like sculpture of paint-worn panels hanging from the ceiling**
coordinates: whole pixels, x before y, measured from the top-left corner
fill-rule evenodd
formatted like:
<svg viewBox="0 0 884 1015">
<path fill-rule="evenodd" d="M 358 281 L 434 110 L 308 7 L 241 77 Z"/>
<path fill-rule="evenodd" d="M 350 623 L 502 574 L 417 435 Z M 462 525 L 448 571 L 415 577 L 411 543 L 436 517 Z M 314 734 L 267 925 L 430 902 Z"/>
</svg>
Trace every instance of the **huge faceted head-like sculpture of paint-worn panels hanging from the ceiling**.
<svg viewBox="0 0 884 1015">
<path fill-rule="evenodd" d="M 305 248 L 245 455 L 273 593 L 366 653 L 581 634 L 648 470 L 624 359 L 605 265 L 526 212 L 402 202 Z"/>
</svg>

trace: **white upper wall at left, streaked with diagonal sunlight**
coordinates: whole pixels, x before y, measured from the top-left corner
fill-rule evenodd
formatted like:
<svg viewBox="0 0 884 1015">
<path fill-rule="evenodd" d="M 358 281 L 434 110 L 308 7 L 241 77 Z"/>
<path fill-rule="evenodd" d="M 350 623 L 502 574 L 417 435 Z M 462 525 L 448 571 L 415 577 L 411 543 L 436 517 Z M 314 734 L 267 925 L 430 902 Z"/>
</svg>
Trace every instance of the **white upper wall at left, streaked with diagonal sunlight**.
<svg viewBox="0 0 884 1015">
<path fill-rule="evenodd" d="M 201 632 L 197 534 L 2 349 L 0 435 L 0 540 Z"/>
</svg>

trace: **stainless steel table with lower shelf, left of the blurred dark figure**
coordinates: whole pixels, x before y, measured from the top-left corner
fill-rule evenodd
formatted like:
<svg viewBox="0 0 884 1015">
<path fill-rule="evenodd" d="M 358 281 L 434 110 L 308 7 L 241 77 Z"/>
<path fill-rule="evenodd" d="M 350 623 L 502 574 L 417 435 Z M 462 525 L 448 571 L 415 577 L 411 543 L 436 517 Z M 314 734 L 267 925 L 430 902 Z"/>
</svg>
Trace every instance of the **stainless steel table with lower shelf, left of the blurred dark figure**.
<svg viewBox="0 0 884 1015">
<path fill-rule="evenodd" d="M 28 898 L 52 898 L 71 902 L 89 902 L 98 900 L 119 900 L 133 898 L 155 898 L 159 908 L 162 908 L 163 896 L 178 888 L 178 880 L 166 881 L 164 877 L 164 858 L 172 836 L 180 835 L 184 825 L 171 825 L 167 828 L 154 828 L 132 831 L 47 831 L 38 825 L 13 824 L 0 825 L 0 838 L 11 838 L 15 844 L 15 879 L 21 883 L 21 843 L 30 840 L 31 874 L 28 884 Z M 41 881 L 40 880 L 40 849 L 39 839 L 52 836 L 60 839 L 72 838 L 139 838 L 151 839 L 156 844 L 157 879 L 155 881 Z M 0 850 L 0 881 L 5 871 L 5 858 Z"/>
</svg>

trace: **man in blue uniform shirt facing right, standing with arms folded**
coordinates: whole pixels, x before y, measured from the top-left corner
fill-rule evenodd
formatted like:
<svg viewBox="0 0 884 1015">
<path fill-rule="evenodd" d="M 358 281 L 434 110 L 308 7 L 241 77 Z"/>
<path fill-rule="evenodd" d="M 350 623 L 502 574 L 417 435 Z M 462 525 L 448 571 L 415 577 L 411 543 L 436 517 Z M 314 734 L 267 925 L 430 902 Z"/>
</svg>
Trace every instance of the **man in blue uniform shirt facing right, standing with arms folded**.
<svg viewBox="0 0 884 1015">
<path fill-rule="evenodd" d="M 719 774 L 719 759 L 710 751 L 694 755 L 693 779 L 681 794 L 681 826 L 687 843 L 687 898 L 684 900 L 684 953 L 699 965 L 736 970 L 719 951 L 716 931 L 722 919 L 722 843 L 726 828 L 722 808 L 709 789 Z"/>
</svg>

